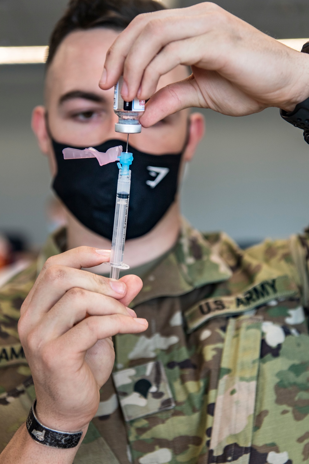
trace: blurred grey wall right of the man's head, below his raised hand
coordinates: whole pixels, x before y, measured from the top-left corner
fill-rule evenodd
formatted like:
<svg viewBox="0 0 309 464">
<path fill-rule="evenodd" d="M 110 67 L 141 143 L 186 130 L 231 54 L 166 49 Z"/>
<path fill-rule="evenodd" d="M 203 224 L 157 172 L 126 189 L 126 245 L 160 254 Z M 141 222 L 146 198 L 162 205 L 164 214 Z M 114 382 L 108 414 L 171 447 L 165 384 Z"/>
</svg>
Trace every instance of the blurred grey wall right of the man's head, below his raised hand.
<svg viewBox="0 0 309 464">
<path fill-rule="evenodd" d="M 309 224 L 309 145 L 269 108 L 233 118 L 203 110 L 206 135 L 184 180 L 183 213 L 241 244 Z"/>
</svg>

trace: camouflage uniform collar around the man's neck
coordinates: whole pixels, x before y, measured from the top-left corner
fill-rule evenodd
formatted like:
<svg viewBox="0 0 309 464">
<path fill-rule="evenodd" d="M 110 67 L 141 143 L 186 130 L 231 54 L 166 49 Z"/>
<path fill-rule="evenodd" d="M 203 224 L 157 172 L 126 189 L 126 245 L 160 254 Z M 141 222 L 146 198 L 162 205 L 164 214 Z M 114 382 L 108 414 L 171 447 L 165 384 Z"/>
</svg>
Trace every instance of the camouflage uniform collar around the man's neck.
<svg viewBox="0 0 309 464">
<path fill-rule="evenodd" d="M 217 238 L 207 240 L 183 219 L 176 245 L 144 277 L 144 286 L 130 306 L 162 296 L 184 295 L 207 284 L 227 281 L 232 271 L 219 254 L 220 234 Z M 47 258 L 65 250 L 65 243 L 64 228 L 50 235 L 38 257 L 38 272 Z"/>
</svg>

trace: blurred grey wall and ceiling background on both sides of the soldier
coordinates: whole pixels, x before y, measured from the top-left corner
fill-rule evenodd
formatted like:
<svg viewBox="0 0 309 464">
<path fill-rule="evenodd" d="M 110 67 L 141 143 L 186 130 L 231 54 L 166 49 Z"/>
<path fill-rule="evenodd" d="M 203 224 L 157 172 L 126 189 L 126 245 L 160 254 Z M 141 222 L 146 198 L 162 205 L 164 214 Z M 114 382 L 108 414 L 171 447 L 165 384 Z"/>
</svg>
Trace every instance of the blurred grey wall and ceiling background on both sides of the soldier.
<svg viewBox="0 0 309 464">
<path fill-rule="evenodd" d="M 217 3 L 277 39 L 309 37 L 308 0 Z M 0 46 L 47 45 L 66 4 L 0 0 Z M 62 220 L 30 128 L 32 108 L 43 103 L 43 80 L 44 64 L 0 65 L 0 234 L 17 251 L 38 248 Z M 309 223 L 309 147 L 302 132 L 277 109 L 241 118 L 203 113 L 207 131 L 183 183 L 183 214 L 201 230 L 226 231 L 241 246 L 302 231 Z"/>
</svg>

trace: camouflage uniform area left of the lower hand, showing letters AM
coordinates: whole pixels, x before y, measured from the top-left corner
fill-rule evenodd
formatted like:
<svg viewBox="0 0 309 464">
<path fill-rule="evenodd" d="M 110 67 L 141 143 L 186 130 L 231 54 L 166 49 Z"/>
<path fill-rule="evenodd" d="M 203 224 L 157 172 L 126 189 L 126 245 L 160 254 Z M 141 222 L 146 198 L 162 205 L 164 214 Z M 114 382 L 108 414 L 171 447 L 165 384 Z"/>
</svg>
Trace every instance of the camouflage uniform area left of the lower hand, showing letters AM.
<svg viewBox="0 0 309 464">
<path fill-rule="evenodd" d="M 36 278 L 36 263 L 0 289 L 0 452 L 27 418 L 34 387 L 19 341 L 20 307 Z"/>
</svg>

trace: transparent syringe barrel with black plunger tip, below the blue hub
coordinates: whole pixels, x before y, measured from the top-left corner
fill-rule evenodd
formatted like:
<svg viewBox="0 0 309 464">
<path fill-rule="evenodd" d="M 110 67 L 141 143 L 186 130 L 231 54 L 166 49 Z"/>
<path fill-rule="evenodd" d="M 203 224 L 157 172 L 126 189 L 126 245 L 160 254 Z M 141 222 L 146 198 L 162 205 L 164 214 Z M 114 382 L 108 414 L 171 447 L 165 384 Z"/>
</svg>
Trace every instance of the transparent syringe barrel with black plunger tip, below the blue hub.
<svg viewBox="0 0 309 464">
<path fill-rule="evenodd" d="M 115 265 L 120 265 L 123 262 L 123 251 L 126 239 L 131 171 L 129 169 L 127 169 L 126 172 L 124 171 L 124 169 L 120 169 L 117 184 L 114 231 L 110 258 L 110 263 Z"/>
</svg>

